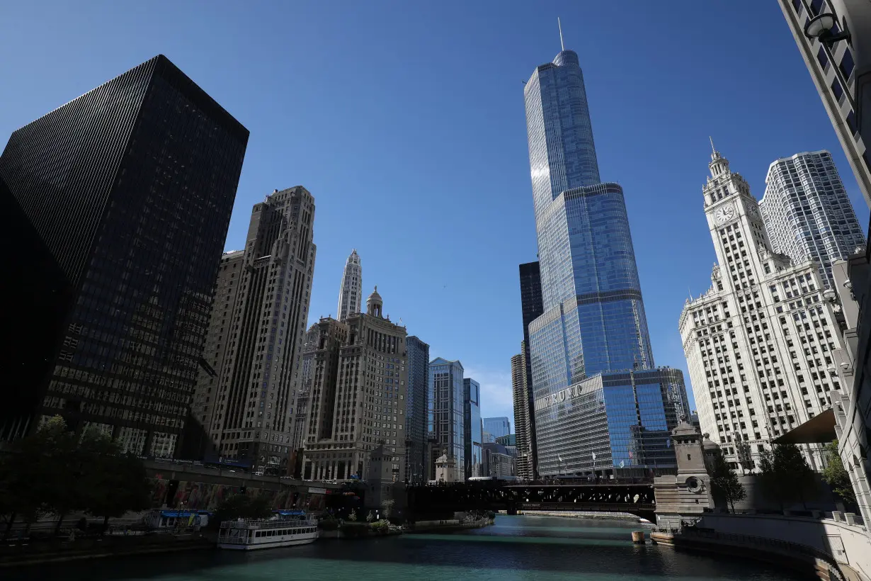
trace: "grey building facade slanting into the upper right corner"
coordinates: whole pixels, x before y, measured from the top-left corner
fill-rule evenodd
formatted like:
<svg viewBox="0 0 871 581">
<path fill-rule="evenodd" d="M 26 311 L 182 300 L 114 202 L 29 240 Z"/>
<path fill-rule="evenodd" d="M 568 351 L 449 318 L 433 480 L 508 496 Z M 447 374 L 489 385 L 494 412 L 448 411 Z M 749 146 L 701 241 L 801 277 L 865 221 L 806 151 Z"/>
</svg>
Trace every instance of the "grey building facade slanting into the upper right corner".
<svg viewBox="0 0 871 581">
<path fill-rule="evenodd" d="M 871 152 L 860 132 L 860 104 L 865 102 L 866 115 L 871 118 L 871 89 L 866 88 L 856 100 L 857 79 L 865 87 L 871 83 L 868 71 L 871 53 L 868 51 L 868 33 L 871 32 L 871 6 L 862 0 L 778 0 L 780 10 L 793 32 L 795 44 L 814 79 L 823 106 L 832 120 L 834 132 L 841 141 L 850 168 L 856 176 L 865 201 L 871 206 Z M 849 6 L 847 6 L 849 4 Z M 850 42 L 841 41 L 831 47 L 816 38 L 805 35 L 808 19 L 823 13 L 833 14 L 837 30 L 849 30 L 854 36 Z M 864 44 L 864 49 L 860 49 Z M 857 49 L 860 49 L 857 53 Z M 864 59 L 864 63 L 861 60 Z M 858 65 L 858 66 L 857 66 Z M 862 71 L 862 69 L 865 69 Z M 871 125 L 868 125 L 871 127 Z"/>
</svg>

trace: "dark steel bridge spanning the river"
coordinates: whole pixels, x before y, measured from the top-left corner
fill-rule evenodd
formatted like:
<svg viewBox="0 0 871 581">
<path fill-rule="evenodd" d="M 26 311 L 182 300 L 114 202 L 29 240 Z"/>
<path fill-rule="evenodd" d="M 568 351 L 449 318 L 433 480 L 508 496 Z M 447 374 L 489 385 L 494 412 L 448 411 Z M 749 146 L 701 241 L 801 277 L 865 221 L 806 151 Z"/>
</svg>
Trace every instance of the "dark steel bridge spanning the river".
<svg viewBox="0 0 871 581">
<path fill-rule="evenodd" d="M 406 494 L 413 512 L 583 510 L 627 512 L 656 520 L 652 483 L 449 483 L 409 485 Z"/>
</svg>

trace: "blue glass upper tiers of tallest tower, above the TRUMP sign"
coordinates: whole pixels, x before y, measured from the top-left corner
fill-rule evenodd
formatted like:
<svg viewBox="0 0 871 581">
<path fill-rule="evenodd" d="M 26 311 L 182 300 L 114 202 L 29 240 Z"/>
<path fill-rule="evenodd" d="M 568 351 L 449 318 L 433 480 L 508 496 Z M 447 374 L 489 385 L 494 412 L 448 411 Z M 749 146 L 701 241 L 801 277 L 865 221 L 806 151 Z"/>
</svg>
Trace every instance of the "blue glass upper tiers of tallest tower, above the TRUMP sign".
<svg viewBox="0 0 871 581">
<path fill-rule="evenodd" d="M 536 397 L 609 369 L 651 368 L 623 190 L 599 183 L 584 75 L 562 51 L 525 89 L 544 314 L 530 324 Z"/>
</svg>

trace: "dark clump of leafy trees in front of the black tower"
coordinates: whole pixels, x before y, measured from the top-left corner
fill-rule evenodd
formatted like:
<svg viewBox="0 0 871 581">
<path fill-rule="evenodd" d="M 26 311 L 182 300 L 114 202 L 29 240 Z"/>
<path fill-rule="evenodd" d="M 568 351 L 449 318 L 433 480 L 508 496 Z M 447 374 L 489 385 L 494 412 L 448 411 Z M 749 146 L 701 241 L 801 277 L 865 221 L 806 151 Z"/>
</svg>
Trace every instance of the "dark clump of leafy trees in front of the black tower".
<svg viewBox="0 0 871 581">
<path fill-rule="evenodd" d="M 118 443 L 98 429 L 81 437 L 59 415 L 37 432 L 13 444 L 0 465 L 0 512 L 28 524 L 45 514 L 64 516 L 83 510 L 95 516 L 120 517 L 150 506 L 151 487 L 145 466 L 121 453 Z"/>
</svg>

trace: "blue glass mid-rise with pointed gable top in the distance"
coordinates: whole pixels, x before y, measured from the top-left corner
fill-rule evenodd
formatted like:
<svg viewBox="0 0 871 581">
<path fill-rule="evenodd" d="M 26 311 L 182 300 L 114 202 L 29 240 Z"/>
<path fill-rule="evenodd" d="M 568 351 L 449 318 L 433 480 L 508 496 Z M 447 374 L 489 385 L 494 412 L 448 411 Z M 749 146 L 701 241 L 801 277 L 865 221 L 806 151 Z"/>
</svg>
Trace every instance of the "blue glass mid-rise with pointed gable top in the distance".
<svg viewBox="0 0 871 581">
<path fill-rule="evenodd" d="M 465 480 L 465 386 L 463 363 L 442 357 L 429 361 L 428 431 L 436 448 L 429 457 L 429 480 L 436 479 L 436 459 L 447 455 L 456 463 L 457 480 Z"/>
</svg>

